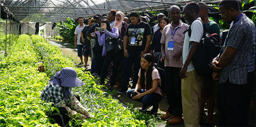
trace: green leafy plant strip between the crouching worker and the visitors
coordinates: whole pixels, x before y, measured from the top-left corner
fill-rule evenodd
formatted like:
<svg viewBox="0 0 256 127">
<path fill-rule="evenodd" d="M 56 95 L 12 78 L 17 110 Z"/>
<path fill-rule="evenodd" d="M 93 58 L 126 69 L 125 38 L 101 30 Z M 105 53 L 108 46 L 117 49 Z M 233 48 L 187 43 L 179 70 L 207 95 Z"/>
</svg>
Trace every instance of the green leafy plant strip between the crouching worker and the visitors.
<svg viewBox="0 0 256 127">
<path fill-rule="evenodd" d="M 37 36 L 37 35 L 36 35 Z M 33 41 L 33 39 L 32 39 Z M 75 65 L 66 56 L 63 56 L 56 46 L 47 42 L 36 42 L 36 52 L 39 52 L 45 64 L 45 72 L 49 77 L 54 75 L 62 67 Z M 55 68 L 53 68 L 55 67 Z M 112 96 L 102 91 L 102 86 L 96 85 L 96 79 L 91 73 L 75 68 L 77 77 L 86 85 L 73 88 L 73 92 L 81 98 L 81 104 L 85 106 L 93 116 L 86 120 L 71 119 L 70 125 L 75 127 L 156 127 L 159 121 L 150 115 L 134 110 L 133 107 L 125 108 Z"/>
</svg>

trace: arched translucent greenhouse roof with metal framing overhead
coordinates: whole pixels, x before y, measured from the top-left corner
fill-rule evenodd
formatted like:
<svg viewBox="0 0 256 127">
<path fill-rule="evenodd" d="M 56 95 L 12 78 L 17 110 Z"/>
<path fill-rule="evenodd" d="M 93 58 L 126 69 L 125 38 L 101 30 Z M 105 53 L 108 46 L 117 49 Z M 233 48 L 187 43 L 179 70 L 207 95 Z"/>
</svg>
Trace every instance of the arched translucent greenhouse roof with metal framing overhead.
<svg viewBox="0 0 256 127">
<path fill-rule="evenodd" d="M 112 9 L 124 13 L 161 11 L 173 4 L 183 6 L 185 2 L 191 1 L 213 0 L 1 0 L 1 18 L 59 22 L 67 17 L 92 17 L 96 13 L 108 13 Z"/>
</svg>

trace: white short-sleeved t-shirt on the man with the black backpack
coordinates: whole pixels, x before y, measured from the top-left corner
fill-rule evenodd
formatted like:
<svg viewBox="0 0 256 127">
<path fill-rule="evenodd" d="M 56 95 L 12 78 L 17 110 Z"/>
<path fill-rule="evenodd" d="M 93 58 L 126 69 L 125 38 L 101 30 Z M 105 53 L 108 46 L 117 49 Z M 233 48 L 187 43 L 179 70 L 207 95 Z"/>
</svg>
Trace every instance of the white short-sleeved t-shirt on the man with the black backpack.
<svg viewBox="0 0 256 127">
<path fill-rule="evenodd" d="M 197 19 L 201 19 L 200 17 Z M 184 39 L 184 44 L 183 44 L 183 52 L 182 52 L 182 60 L 183 60 L 183 65 L 185 61 L 187 60 L 187 57 L 189 56 L 189 44 L 190 42 L 200 42 L 201 38 L 203 37 L 203 24 L 199 20 L 193 21 L 191 25 L 191 37 L 189 37 L 188 31 L 186 32 L 185 39 Z M 192 60 L 187 66 L 187 72 L 195 70 Z"/>
</svg>

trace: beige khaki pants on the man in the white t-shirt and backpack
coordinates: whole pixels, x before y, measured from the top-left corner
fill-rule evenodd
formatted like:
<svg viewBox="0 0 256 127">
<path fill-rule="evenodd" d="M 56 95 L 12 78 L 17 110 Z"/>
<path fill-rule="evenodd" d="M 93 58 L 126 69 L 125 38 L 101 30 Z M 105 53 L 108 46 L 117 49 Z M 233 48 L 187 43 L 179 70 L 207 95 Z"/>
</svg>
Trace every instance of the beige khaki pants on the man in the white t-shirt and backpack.
<svg viewBox="0 0 256 127">
<path fill-rule="evenodd" d="M 195 71 L 181 79 L 182 108 L 185 127 L 199 127 L 199 100 L 203 79 Z"/>
</svg>

